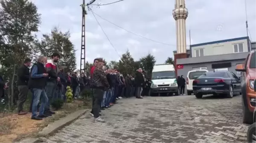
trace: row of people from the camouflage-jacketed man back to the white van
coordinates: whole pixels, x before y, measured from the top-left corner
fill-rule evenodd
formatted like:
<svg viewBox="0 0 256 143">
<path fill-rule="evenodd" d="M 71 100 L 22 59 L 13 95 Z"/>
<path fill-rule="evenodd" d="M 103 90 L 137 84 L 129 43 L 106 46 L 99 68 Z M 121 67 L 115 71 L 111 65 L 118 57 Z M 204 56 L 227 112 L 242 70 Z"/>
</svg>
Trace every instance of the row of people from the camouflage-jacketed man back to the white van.
<svg viewBox="0 0 256 143">
<path fill-rule="evenodd" d="M 123 76 L 117 69 L 105 69 L 102 58 L 94 59 L 90 79 L 93 94 L 93 108 L 90 114 L 99 122 L 104 122 L 100 117 L 101 110 L 117 104 L 116 101 L 123 97 L 135 96 L 143 99 L 143 96 L 148 95 L 151 86 L 141 68 L 136 71 L 135 78 L 129 74 Z"/>
</svg>

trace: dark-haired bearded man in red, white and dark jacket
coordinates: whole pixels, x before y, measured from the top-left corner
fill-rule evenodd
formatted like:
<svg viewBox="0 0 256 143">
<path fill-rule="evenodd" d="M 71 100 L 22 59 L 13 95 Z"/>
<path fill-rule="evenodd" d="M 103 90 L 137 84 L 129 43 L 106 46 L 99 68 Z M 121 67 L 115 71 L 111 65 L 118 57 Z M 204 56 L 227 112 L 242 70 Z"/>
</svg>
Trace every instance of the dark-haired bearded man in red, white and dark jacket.
<svg viewBox="0 0 256 143">
<path fill-rule="evenodd" d="M 60 78 L 58 77 L 58 68 L 57 68 L 57 62 L 60 59 L 60 55 L 58 53 L 53 53 L 51 56 L 52 59 L 47 61 L 47 64 L 45 65 L 46 71 L 49 75 L 49 79 L 46 84 L 46 94 L 48 97 L 47 106 L 45 106 L 45 115 L 52 115 L 55 114 L 55 112 L 50 111 L 50 102 L 52 101 L 52 97 L 57 92 L 57 83 L 60 81 Z"/>
</svg>

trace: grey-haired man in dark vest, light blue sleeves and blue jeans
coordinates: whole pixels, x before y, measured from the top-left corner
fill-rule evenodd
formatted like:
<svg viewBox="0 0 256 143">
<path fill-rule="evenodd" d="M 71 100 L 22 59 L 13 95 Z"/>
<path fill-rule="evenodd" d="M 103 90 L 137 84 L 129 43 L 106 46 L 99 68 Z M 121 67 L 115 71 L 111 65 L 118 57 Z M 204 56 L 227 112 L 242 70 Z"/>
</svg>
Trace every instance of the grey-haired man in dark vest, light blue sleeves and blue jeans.
<svg viewBox="0 0 256 143">
<path fill-rule="evenodd" d="M 48 73 L 44 67 L 47 63 L 47 58 L 45 56 L 40 56 L 38 62 L 31 68 L 30 78 L 29 78 L 29 88 L 33 94 L 32 103 L 32 116 L 33 120 L 42 120 L 42 118 L 48 117 L 44 115 L 44 107 L 48 102 L 47 95 L 45 93 L 45 86 L 47 83 Z M 41 107 L 39 108 L 39 115 L 37 115 L 38 104 L 41 101 Z"/>
</svg>

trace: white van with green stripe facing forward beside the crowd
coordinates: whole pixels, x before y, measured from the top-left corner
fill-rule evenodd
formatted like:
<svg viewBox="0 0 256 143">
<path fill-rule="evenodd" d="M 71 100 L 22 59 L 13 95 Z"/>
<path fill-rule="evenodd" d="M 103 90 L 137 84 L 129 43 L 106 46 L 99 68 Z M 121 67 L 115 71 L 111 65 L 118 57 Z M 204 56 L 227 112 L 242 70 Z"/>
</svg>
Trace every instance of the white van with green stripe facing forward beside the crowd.
<svg viewBox="0 0 256 143">
<path fill-rule="evenodd" d="M 152 70 L 150 94 L 155 93 L 175 93 L 179 95 L 175 68 L 173 64 L 156 64 Z"/>
</svg>

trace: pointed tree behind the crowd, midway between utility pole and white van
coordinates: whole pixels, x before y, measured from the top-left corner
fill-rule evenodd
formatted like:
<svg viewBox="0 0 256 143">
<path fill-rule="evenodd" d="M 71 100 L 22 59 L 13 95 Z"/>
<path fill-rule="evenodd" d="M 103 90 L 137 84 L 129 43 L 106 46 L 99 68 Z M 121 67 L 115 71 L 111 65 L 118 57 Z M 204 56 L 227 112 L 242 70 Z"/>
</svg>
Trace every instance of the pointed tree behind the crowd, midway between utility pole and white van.
<svg viewBox="0 0 256 143">
<path fill-rule="evenodd" d="M 134 73 L 134 59 L 132 58 L 129 50 L 122 54 L 119 60 L 118 69 L 123 75 Z"/>
</svg>

